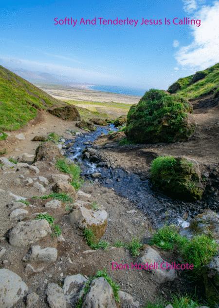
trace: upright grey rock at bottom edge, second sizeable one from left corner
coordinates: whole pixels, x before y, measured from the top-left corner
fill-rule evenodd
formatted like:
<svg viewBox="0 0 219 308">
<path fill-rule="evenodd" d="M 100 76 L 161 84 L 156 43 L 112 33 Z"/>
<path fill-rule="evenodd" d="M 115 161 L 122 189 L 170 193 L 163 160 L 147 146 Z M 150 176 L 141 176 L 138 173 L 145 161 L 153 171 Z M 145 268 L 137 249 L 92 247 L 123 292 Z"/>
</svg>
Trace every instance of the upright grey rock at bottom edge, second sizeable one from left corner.
<svg viewBox="0 0 219 308">
<path fill-rule="evenodd" d="M 47 302 L 50 308 L 66 308 L 63 290 L 56 284 L 48 284 L 46 289 Z"/>
</svg>

